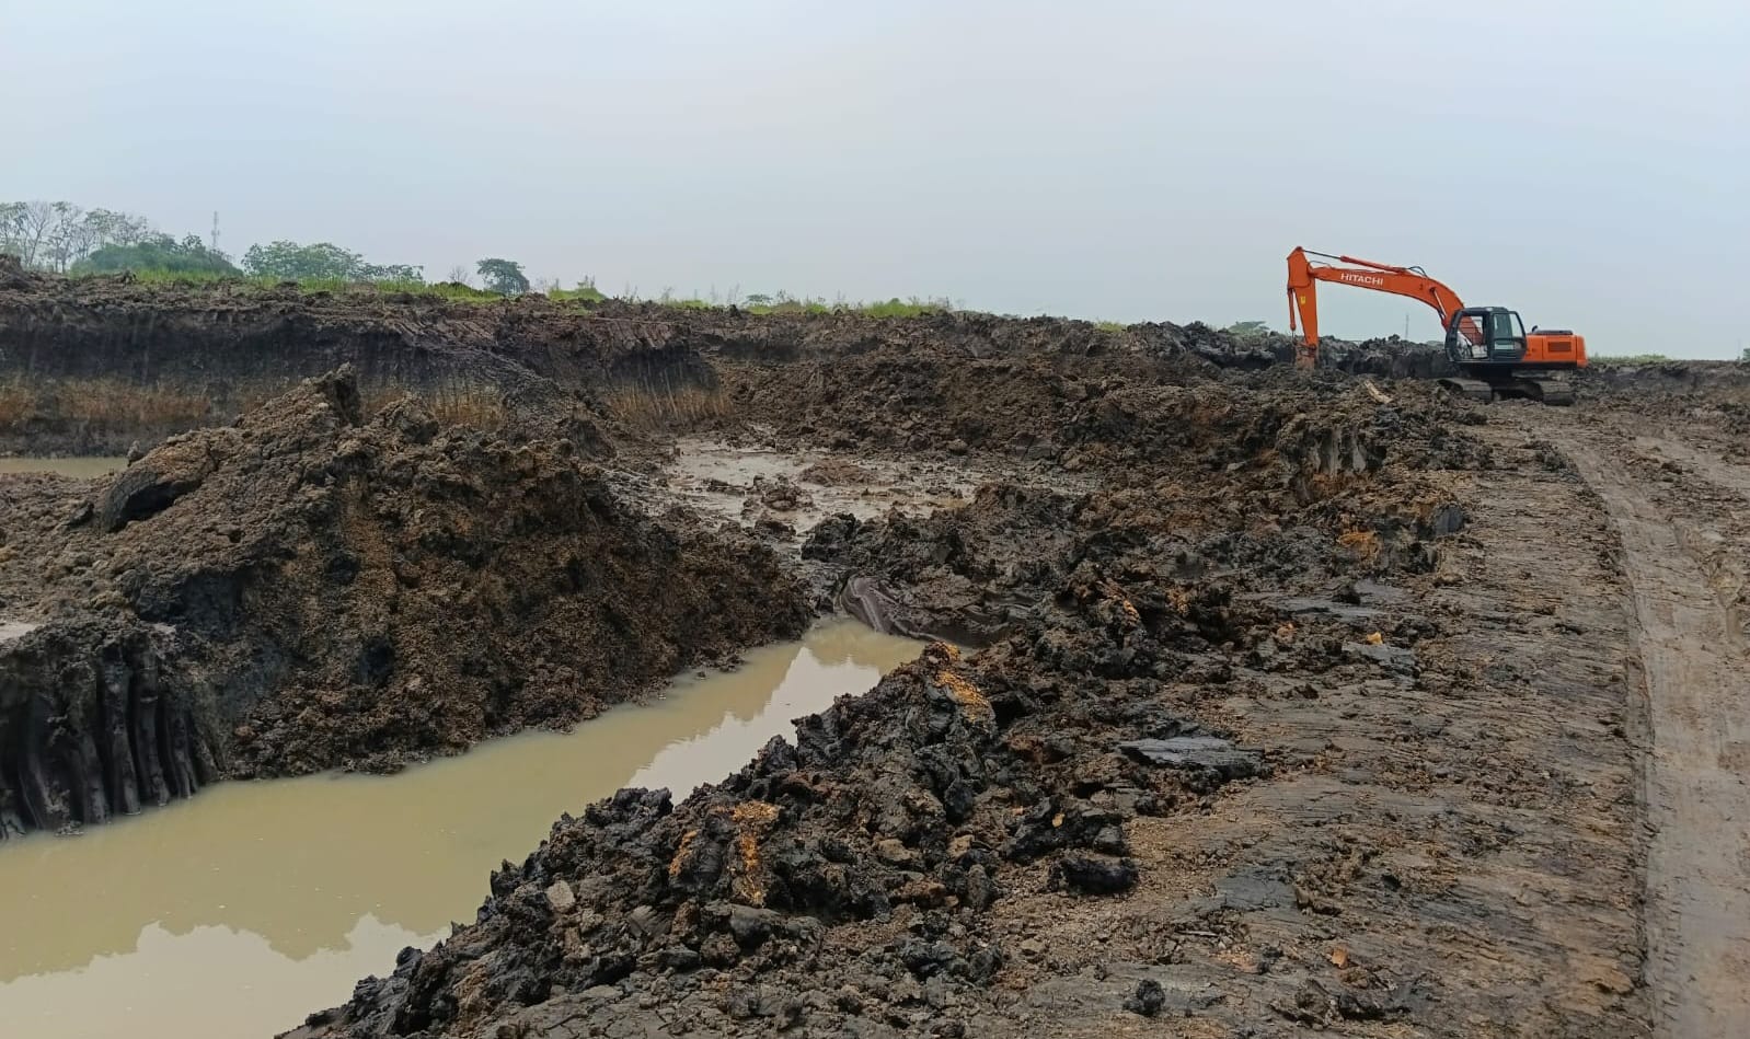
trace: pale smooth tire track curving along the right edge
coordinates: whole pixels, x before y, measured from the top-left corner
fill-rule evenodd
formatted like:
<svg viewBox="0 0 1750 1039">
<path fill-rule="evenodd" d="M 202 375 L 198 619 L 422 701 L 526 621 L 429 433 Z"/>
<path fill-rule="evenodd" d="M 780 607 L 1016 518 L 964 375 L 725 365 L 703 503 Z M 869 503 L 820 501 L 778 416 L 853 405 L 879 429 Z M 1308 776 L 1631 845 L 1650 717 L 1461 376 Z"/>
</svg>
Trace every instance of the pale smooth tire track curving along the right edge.
<svg viewBox="0 0 1750 1039">
<path fill-rule="evenodd" d="M 1573 437 L 1566 453 L 1622 542 L 1652 722 L 1643 784 L 1654 1034 L 1736 1037 L 1750 1022 L 1750 647 L 1687 551 L 1684 521 L 1706 520 L 1673 516 L 1682 495 L 1636 478 L 1596 441 Z"/>
</svg>

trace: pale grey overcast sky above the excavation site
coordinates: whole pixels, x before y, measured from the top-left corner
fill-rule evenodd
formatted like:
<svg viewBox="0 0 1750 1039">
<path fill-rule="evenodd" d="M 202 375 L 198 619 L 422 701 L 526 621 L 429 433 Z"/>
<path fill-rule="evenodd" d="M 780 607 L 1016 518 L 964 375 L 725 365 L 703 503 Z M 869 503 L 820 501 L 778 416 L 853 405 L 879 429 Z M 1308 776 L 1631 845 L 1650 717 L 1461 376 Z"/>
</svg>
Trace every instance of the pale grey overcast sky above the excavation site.
<svg viewBox="0 0 1750 1039">
<path fill-rule="evenodd" d="M 0 199 L 233 254 L 1284 327 L 1306 245 L 1750 345 L 1746 0 L 0 0 Z"/>
</svg>

